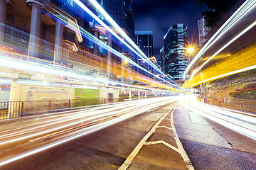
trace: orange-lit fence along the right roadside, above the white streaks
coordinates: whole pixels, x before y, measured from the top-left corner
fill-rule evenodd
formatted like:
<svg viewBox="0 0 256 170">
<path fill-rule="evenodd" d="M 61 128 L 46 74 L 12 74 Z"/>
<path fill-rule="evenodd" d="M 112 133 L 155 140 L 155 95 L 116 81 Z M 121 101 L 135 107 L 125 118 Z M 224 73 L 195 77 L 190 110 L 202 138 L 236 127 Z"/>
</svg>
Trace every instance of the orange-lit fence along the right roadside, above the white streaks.
<svg viewBox="0 0 256 170">
<path fill-rule="evenodd" d="M 237 111 L 245 111 L 250 113 L 256 113 L 256 101 L 246 99 L 231 99 L 230 101 L 220 101 L 211 98 L 200 98 L 200 101 L 208 103 L 213 106 L 219 106 L 222 108 L 230 108 Z"/>
</svg>

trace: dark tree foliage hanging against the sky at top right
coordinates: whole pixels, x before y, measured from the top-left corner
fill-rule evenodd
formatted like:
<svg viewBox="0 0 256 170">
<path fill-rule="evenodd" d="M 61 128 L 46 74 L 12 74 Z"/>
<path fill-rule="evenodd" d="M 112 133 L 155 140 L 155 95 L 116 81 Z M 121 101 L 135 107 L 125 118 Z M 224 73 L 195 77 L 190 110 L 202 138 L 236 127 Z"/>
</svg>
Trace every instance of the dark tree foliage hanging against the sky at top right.
<svg viewBox="0 0 256 170">
<path fill-rule="evenodd" d="M 213 28 L 236 1 L 238 0 L 198 0 L 200 6 L 206 4 L 211 9 L 201 13 L 202 16 L 206 16 L 206 26 Z"/>
</svg>

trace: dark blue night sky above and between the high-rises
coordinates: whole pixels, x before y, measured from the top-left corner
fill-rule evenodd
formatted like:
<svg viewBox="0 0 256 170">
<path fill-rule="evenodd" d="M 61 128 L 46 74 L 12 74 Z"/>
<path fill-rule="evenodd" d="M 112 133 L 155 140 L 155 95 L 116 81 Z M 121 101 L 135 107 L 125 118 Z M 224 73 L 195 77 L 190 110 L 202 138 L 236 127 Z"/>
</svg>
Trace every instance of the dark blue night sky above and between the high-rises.
<svg viewBox="0 0 256 170">
<path fill-rule="evenodd" d="M 152 30 L 154 56 L 159 59 L 164 35 L 170 26 L 183 23 L 188 26 L 188 42 L 198 42 L 198 20 L 206 6 L 197 0 L 134 0 L 135 30 Z"/>
</svg>

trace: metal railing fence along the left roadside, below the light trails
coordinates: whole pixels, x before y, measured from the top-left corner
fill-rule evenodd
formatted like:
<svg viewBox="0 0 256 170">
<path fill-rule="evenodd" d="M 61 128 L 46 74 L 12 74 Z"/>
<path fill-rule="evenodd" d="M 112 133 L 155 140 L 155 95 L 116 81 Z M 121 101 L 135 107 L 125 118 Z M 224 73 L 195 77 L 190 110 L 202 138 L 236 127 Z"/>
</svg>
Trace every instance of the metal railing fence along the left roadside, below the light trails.
<svg viewBox="0 0 256 170">
<path fill-rule="evenodd" d="M 106 103 L 124 101 L 123 98 L 73 99 L 55 101 L 2 101 L 0 102 L 0 119 L 21 118 L 30 115 L 73 111 Z"/>
</svg>

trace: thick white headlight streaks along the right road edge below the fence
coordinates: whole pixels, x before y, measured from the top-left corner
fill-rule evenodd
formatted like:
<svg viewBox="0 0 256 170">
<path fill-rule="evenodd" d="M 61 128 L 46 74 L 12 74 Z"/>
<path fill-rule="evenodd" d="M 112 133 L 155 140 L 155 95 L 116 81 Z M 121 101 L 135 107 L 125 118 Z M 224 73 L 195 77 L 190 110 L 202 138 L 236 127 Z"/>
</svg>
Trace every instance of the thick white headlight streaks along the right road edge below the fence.
<svg viewBox="0 0 256 170">
<path fill-rule="evenodd" d="M 198 101 L 196 101 L 196 98 L 183 98 L 183 101 L 180 101 L 180 103 L 194 113 L 198 113 L 205 118 L 213 120 L 215 123 L 223 125 L 227 128 L 230 128 L 231 130 L 235 130 L 242 135 L 256 140 L 255 115 L 242 115 L 236 111 L 234 113 L 231 110 L 225 110 L 223 112 L 223 109 L 221 108 L 211 107 L 199 103 Z"/>
</svg>

